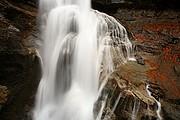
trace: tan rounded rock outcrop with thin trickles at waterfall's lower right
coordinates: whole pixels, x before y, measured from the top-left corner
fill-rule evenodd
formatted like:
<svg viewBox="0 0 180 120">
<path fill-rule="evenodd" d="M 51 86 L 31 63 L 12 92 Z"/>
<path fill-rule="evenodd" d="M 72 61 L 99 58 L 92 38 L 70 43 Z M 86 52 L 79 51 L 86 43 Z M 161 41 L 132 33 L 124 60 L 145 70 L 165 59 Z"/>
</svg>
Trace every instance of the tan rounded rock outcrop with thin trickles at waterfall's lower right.
<svg viewBox="0 0 180 120">
<path fill-rule="evenodd" d="M 158 119 L 157 103 L 152 96 L 162 98 L 162 91 L 150 83 L 146 71 L 149 65 L 128 62 L 114 71 L 106 81 L 102 94 L 95 105 L 100 108 L 105 102 L 101 119 L 111 120 L 145 120 Z M 146 89 L 150 85 L 150 96 Z M 156 92 L 155 92 L 156 91 Z M 95 107 L 95 111 L 98 111 Z M 161 113 L 163 115 L 163 113 Z"/>
</svg>

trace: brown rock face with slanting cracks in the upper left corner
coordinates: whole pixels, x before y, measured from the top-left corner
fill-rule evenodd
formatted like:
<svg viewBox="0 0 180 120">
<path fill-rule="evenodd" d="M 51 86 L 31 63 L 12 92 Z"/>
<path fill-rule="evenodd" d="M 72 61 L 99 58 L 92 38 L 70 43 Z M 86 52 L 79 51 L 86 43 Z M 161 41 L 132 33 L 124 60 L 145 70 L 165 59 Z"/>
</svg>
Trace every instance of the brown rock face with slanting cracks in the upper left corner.
<svg viewBox="0 0 180 120">
<path fill-rule="evenodd" d="M 27 54 L 25 39 L 35 25 L 36 9 L 33 5 L 0 1 L 0 51 Z"/>
</svg>

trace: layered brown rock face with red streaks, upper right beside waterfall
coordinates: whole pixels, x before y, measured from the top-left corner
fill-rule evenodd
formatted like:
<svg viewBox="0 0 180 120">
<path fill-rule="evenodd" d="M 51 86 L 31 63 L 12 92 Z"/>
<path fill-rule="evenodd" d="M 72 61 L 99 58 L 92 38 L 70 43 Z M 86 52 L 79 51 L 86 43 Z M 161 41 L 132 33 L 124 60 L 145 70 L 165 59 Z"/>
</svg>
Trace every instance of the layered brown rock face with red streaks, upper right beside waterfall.
<svg viewBox="0 0 180 120">
<path fill-rule="evenodd" d="M 159 55 L 167 46 L 180 41 L 179 15 L 173 10 L 119 9 L 114 17 L 134 36 L 138 50 Z"/>
</svg>

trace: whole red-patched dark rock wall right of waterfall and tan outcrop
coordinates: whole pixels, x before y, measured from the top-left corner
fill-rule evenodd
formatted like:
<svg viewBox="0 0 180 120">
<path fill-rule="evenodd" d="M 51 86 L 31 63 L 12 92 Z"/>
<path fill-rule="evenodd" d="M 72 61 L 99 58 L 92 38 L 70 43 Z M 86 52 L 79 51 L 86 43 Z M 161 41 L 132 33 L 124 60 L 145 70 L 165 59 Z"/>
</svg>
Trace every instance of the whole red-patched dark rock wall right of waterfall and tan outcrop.
<svg viewBox="0 0 180 120">
<path fill-rule="evenodd" d="M 147 70 L 145 74 L 152 84 L 158 86 L 150 89 L 152 96 L 158 98 L 157 96 L 160 94 L 157 91 L 159 89 L 163 93 L 159 99 L 162 103 L 161 115 L 163 119 L 178 120 L 180 119 L 179 8 L 168 5 L 160 8 L 155 6 L 147 8 L 142 6 L 129 7 L 129 4 L 127 3 L 128 6 L 123 7 L 116 4 L 116 9 L 112 11 L 109 11 L 110 8 L 106 9 L 106 7 L 102 7 L 105 9 L 100 8 L 100 10 L 107 10 L 106 12 L 114 16 L 128 29 L 129 37 L 135 46 L 137 62 L 143 66 L 150 65 L 151 69 Z M 111 4 L 106 5 L 110 6 Z M 135 76 L 135 78 L 139 77 Z M 113 84 L 117 85 L 117 83 Z M 111 101 L 112 99 L 109 98 L 108 100 Z M 111 104 L 113 105 L 114 102 L 111 101 Z M 113 113 L 115 116 L 113 116 L 113 119 L 119 119 L 124 115 L 122 119 L 125 120 L 128 119 L 128 116 L 131 117 L 128 110 L 125 110 L 125 112 L 122 109 L 117 111 Z M 148 119 L 148 117 L 144 115 L 141 119 Z M 153 119 L 156 119 L 156 116 Z"/>
</svg>

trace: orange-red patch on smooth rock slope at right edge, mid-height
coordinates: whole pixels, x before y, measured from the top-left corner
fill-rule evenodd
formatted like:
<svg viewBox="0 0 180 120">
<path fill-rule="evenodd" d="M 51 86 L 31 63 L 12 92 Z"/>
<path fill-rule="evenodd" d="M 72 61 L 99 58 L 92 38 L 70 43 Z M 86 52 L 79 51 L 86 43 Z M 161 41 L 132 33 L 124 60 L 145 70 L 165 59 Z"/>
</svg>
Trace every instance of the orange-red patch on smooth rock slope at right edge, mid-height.
<svg viewBox="0 0 180 120">
<path fill-rule="evenodd" d="M 147 75 L 154 83 L 161 84 L 173 95 L 180 97 L 180 86 L 177 84 L 177 77 L 173 74 L 174 64 L 179 64 L 179 54 L 173 53 L 176 47 L 166 47 L 162 53 L 159 63 L 147 59 L 146 62 L 153 68 L 147 71 Z"/>
</svg>

